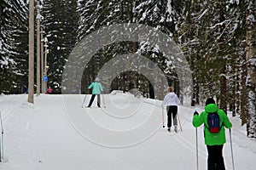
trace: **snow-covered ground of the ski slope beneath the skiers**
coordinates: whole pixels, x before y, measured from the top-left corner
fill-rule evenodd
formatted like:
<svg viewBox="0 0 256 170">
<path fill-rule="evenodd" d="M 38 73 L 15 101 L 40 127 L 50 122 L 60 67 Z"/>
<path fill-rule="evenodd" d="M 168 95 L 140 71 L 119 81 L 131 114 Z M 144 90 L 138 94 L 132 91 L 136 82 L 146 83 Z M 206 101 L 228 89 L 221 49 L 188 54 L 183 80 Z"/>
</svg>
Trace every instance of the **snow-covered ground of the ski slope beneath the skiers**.
<svg viewBox="0 0 256 170">
<path fill-rule="evenodd" d="M 1 170 L 196 169 L 195 127 L 191 124 L 195 108 L 179 106 L 182 131 L 167 133 L 161 125 L 160 101 L 105 94 L 106 108 L 94 105 L 90 109 L 81 108 L 84 95 L 41 94 L 34 99 L 31 105 L 26 94 L 0 96 Z M 86 104 L 89 99 L 90 95 Z M 254 170 L 256 141 L 246 137 L 238 117 L 230 121 L 235 167 Z M 199 169 L 207 169 L 203 128 L 197 130 Z M 226 169 L 232 169 L 228 130 L 226 139 L 224 160 Z"/>
</svg>

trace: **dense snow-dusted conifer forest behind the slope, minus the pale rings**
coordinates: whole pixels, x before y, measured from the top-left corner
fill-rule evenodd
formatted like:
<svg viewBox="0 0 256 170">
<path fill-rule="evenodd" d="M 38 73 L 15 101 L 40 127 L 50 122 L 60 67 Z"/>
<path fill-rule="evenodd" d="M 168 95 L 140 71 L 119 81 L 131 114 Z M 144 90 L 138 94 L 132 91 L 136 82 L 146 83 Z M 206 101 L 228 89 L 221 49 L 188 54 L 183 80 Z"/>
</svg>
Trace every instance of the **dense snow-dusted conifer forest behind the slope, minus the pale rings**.
<svg viewBox="0 0 256 170">
<path fill-rule="evenodd" d="M 0 94 L 23 94 L 29 74 L 29 0 L 0 2 Z M 220 108 L 230 111 L 232 116 L 240 116 L 241 125 L 247 124 L 249 138 L 256 138 L 255 0 L 34 2 L 35 30 L 40 22 L 41 60 L 47 54 L 47 86 L 53 89 L 53 94 L 61 94 L 67 58 L 84 37 L 102 26 L 125 23 L 151 26 L 172 38 L 187 59 L 193 82 L 191 105 L 204 105 L 208 97 L 214 97 Z M 151 59 L 179 94 L 177 72 L 170 64 L 172 59 L 160 51 L 158 44 L 152 47 L 148 42 L 115 42 L 104 46 L 86 65 L 81 80 L 83 94 L 89 93 L 85 89 L 102 66 L 118 54 L 141 54 Z M 35 61 L 36 57 L 35 53 Z M 136 60 L 131 64 L 136 65 Z M 38 67 L 36 62 L 34 67 Z M 148 78 L 137 71 L 120 73 L 111 88 L 124 92 L 137 88 L 144 97 L 155 96 Z M 44 93 L 43 87 L 41 92 Z"/>
</svg>

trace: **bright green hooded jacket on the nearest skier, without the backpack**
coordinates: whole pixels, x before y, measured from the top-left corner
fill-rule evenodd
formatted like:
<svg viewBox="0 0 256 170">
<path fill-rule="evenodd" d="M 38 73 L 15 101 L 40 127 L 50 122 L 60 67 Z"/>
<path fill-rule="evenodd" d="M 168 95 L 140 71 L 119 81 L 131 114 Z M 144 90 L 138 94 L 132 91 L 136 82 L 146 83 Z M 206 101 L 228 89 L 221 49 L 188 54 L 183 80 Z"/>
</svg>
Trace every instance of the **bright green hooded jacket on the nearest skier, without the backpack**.
<svg viewBox="0 0 256 170">
<path fill-rule="evenodd" d="M 218 133 L 210 133 L 207 123 L 208 112 L 218 112 L 219 121 L 221 129 Z M 205 107 L 205 111 L 201 112 L 200 116 L 195 114 L 193 116 L 193 126 L 200 127 L 202 123 L 205 123 L 204 134 L 205 134 L 205 144 L 207 145 L 220 145 L 226 142 L 224 127 L 231 128 L 232 123 L 230 122 L 228 116 L 221 109 L 218 109 L 216 104 L 209 104 Z"/>
</svg>

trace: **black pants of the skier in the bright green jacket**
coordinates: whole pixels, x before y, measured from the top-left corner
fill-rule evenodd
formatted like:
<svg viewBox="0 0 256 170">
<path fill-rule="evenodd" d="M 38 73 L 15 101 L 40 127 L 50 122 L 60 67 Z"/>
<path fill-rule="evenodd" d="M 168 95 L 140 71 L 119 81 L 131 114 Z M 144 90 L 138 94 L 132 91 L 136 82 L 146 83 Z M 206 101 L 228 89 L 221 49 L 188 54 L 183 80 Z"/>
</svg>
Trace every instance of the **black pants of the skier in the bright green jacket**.
<svg viewBox="0 0 256 170">
<path fill-rule="evenodd" d="M 224 158 L 222 156 L 223 144 L 207 145 L 208 170 L 225 170 Z"/>
</svg>

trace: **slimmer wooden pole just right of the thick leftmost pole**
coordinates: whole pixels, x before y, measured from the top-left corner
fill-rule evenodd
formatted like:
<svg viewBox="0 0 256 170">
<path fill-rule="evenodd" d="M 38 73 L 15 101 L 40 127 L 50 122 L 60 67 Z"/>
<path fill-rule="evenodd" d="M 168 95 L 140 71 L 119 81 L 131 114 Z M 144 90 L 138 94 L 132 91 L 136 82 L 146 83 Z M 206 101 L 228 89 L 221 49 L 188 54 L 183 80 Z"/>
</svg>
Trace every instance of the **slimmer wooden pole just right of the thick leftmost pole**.
<svg viewBox="0 0 256 170">
<path fill-rule="evenodd" d="M 37 1 L 37 95 L 40 95 L 40 3 Z"/>
</svg>

